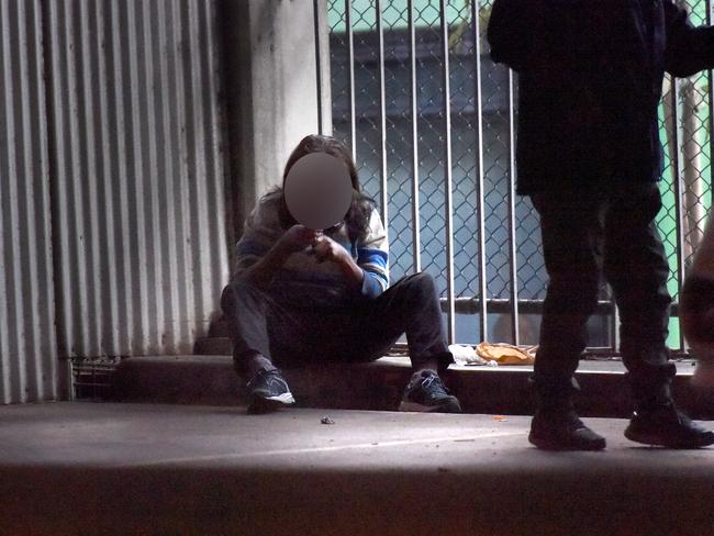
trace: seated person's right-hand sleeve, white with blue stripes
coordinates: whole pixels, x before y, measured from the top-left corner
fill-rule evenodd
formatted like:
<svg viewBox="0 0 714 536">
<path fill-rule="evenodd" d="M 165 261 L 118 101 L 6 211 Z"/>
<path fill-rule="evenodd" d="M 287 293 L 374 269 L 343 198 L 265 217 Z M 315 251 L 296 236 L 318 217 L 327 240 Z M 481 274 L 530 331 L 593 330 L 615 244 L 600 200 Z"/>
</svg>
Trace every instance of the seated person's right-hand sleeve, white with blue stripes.
<svg viewBox="0 0 714 536">
<path fill-rule="evenodd" d="M 389 287 L 389 243 L 387 232 L 372 210 L 369 216 L 369 230 L 357 244 L 357 265 L 365 272 L 362 294 L 376 298 Z"/>
</svg>

